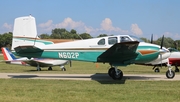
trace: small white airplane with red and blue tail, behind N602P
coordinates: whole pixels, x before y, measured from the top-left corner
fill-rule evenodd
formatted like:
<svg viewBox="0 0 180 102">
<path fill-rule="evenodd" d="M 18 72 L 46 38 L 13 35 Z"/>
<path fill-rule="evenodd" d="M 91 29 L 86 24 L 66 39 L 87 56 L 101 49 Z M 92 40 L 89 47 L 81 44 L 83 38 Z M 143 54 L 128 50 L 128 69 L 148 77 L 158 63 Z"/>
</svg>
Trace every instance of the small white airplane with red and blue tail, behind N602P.
<svg viewBox="0 0 180 102">
<path fill-rule="evenodd" d="M 52 70 L 53 66 L 60 66 L 63 71 L 66 70 L 64 67 L 68 63 L 67 60 L 58 60 L 58 59 L 43 59 L 43 58 L 31 58 L 27 57 L 16 58 L 7 48 L 2 47 L 2 54 L 4 60 L 8 64 L 17 64 L 17 65 L 29 65 L 37 67 L 37 71 L 40 71 L 43 67 L 48 67 L 48 70 Z"/>
</svg>

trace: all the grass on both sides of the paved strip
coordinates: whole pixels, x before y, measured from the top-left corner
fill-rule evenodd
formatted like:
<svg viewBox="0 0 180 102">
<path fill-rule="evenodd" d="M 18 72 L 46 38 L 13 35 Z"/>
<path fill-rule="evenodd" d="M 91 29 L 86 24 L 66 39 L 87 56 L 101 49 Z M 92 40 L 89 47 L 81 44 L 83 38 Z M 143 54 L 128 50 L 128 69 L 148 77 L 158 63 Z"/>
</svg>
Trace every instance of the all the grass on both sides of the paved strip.
<svg viewBox="0 0 180 102">
<path fill-rule="evenodd" d="M 0 60 L 2 60 L 0 56 Z M 96 68 L 98 66 L 98 68 Z M 53 71 L 36 71 L 29 66 L 0 63 L 0 72 L 5 73 L 107 73 L 108 64 L 73 61 L 67 71 L 58 66 Z M 124 74 L 154 73 L 152 66 L 130 65 L 119 67 Z M 179 73 L 176 73 L 179 74 Z M 0 102 L 179 102 L 180 81 L 72 81 L 43 79 L 0 79 Z"/>
</svg>

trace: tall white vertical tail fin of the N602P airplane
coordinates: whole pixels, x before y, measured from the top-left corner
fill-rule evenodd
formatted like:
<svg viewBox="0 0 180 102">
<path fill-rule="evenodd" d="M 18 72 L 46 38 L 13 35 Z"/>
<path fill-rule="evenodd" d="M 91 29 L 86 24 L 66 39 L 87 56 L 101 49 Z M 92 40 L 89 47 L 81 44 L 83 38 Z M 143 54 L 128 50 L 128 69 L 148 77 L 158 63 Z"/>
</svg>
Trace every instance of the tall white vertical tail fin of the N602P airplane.
<svg viewBox="0 0 180 102">
<path fill-rule="evenodd" d="M 12 48 L 18 46 L 42 46 L 53 44 L 51 41 L 40 40 L 37 36 L 36 20 L 33 16 L 18 17 L 14 21 Z"/>
</svg>

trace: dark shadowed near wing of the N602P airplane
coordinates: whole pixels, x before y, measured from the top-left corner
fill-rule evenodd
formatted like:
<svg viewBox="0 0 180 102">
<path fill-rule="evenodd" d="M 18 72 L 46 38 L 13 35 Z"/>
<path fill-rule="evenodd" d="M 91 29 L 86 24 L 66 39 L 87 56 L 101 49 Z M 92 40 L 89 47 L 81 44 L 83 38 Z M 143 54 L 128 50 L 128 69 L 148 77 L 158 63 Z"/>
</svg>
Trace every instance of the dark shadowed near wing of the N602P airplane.
<svg viewBox="0 0 180 102">
<path fill-rule="evenodd" d="M 138 41 L 116 43 L 98 58 L 97 62 L 108 62 L 110 64 L 131 64 L 137 57 L 136 49 L 139 45 Z"/>
</svg>

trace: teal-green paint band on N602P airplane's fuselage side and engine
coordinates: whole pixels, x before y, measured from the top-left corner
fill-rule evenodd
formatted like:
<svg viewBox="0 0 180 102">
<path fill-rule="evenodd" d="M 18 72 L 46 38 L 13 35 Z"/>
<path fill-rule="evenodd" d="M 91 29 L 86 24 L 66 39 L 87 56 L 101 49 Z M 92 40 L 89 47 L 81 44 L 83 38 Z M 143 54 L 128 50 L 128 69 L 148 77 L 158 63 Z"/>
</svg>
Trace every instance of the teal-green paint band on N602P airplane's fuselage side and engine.
<svg viewBox="0 0 180 102">
<path fill-rule="evenodd" d="M 138 50 L 154 50 L 156 52 L 142 55 L 138 52 Z M 51 57 L 57 59 L 97 62 L 97 57 L 104 51 L 105 50 L 44 51 L 42 56 L 47 58 Z M 158 47 L 139 46 L 136 51 L 138 56 L 135 58 L 135 63 L 146 63 L 155 60 L 159 55 L 158 51 Z M 119 58 L 121 58 L 121 56 L 119 56 Z"/>
</svg>

